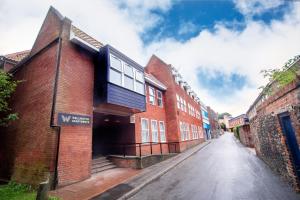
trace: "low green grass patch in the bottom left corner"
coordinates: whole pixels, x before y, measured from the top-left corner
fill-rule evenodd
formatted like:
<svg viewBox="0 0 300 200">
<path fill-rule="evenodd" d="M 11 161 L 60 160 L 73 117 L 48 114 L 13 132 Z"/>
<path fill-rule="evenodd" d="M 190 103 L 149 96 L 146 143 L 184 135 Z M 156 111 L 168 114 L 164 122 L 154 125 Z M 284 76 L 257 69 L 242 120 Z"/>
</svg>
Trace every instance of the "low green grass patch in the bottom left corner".
<svg viewBox="0 0 300 200">
<path fill-rule="evenodd" d="M 30 185 L 9 182 L 0 186 L 0 200 L 35 200 L 36 192 Z M 59 200 L 58 197 L 49 196 L 48 200 Z"/>
</svg>

